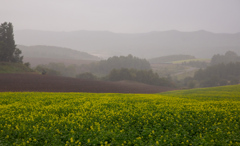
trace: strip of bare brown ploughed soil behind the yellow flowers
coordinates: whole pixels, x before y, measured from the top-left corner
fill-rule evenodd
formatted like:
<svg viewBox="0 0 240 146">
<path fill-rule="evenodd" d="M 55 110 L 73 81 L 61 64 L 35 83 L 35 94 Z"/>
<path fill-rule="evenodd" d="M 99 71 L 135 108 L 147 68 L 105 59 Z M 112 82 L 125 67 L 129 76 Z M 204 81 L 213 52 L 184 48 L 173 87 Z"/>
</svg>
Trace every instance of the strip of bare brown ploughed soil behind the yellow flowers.
<svg viewBox="0 0 240 146">
<path fill-rule="evenodd" d="M 39 74 L 0 74 L 0 92 L 159 93 L 174 88 L 137 82 L 93 81 Z"/>
</svg>

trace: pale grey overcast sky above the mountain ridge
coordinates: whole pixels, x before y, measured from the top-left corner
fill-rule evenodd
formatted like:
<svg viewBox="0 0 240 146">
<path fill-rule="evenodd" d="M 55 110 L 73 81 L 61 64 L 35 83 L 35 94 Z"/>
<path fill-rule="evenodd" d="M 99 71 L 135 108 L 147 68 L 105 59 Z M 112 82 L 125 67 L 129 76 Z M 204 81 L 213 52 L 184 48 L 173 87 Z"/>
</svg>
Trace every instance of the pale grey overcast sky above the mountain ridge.
<svg viewBox="0 0 240 146">
<path fill-rule="evenodd" d="M 15 30 L 240 32 L 240 0 L 0 0 Z"/>
</svg>

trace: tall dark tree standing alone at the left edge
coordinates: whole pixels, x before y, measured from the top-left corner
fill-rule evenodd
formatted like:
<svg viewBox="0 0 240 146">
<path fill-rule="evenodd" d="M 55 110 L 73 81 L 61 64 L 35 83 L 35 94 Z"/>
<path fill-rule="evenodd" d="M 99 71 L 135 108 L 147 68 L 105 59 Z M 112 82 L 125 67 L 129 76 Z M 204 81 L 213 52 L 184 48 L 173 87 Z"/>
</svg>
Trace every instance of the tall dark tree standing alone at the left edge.
<svg viewBox="0 0 240 146">
<path fill-rule="evenodd" d="M 0 25 L 0 61 L 22 63 L 21 53 L 15 45 L 12 23 L 2 23 Z"/>
</svg>

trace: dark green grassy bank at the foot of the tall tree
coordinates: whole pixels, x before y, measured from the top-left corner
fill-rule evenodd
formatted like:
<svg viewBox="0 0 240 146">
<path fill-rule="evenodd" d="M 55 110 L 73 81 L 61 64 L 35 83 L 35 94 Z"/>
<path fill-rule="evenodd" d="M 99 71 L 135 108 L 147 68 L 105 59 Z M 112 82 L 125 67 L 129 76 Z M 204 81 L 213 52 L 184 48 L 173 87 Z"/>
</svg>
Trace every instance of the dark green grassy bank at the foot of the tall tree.
<svg viewBox="0 0 240 146">
<path fill-rule="evenodd" d="M 25 73 L 25 72 L 33 72 L 33 70 L 21 63 L 0 62 L 0 73 Z"/>
</svg>

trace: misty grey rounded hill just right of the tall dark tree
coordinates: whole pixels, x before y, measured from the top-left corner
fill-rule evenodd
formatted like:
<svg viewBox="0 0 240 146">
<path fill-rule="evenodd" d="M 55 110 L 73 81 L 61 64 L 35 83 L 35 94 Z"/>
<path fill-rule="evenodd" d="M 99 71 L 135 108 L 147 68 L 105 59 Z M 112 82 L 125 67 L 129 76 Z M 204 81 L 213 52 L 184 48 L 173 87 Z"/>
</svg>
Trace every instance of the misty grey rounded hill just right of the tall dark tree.
<svg viewBox="0 0 240 146">
<path fill-rule="evenodd" d="M 69 64 L 86 64 L 100 60 L 99 57 L 85 52 L 72 50 L 69 48 L 55 46 L 23 46 L 18 45 L 24 56 L 24 62 L 30 62 L 32 66 L 48 64 L 50 62 L 61 62 Z"/>
</svg>

